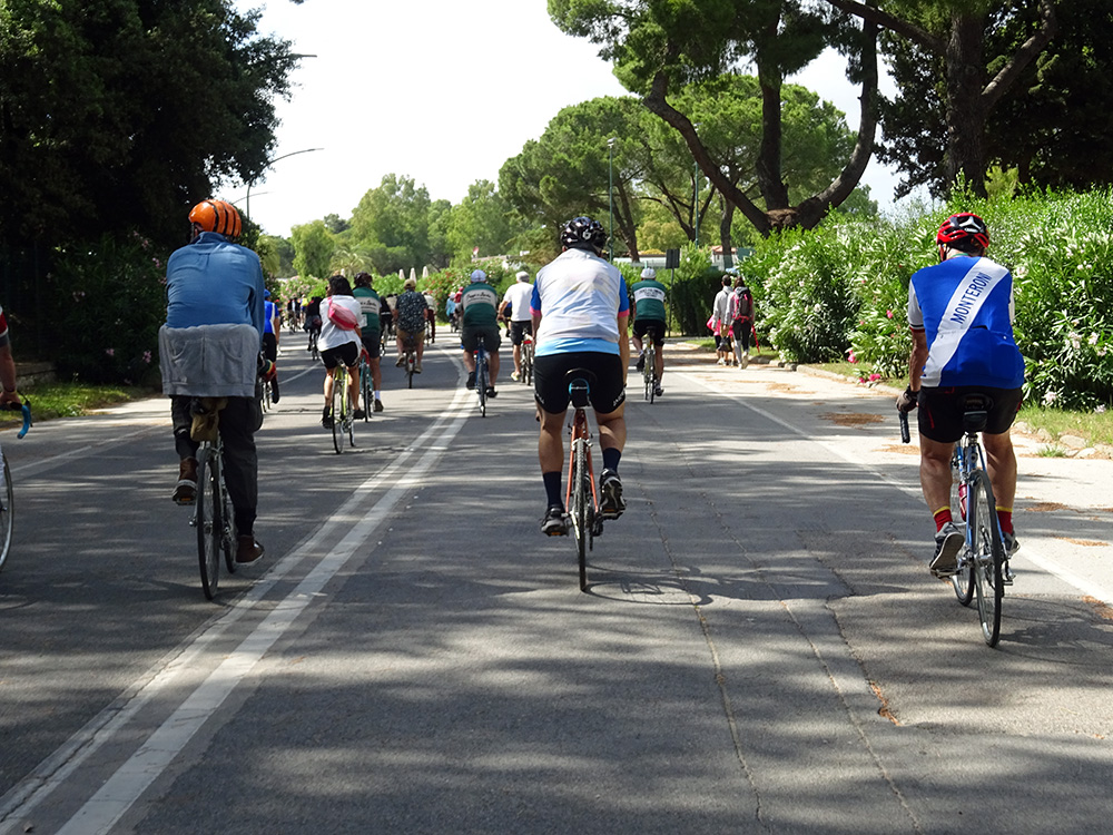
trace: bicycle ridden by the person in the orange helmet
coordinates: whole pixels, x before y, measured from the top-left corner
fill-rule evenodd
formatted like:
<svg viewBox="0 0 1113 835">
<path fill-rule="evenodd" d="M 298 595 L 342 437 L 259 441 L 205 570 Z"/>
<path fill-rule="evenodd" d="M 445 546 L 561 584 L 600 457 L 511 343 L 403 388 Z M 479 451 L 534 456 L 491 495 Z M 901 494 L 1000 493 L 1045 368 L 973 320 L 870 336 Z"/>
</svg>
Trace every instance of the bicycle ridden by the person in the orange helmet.
<svg viewBox="0 0 1113 835">
<path fill-rule="evenodd" d="M 232 499 L 224 483 L 224 442 L 217 428 L 219 405 L 204 397 L 195 401 L 194 412 L 215 411 L 201 445 L 197 450 L 197 498 L 189 524 L 197 529 L 197 559 L 201 571 L 201 590 L 213 600 L 220 582 L 220 554 L 228 573 L 236 571 L 236 518 Z"/>
</svg>

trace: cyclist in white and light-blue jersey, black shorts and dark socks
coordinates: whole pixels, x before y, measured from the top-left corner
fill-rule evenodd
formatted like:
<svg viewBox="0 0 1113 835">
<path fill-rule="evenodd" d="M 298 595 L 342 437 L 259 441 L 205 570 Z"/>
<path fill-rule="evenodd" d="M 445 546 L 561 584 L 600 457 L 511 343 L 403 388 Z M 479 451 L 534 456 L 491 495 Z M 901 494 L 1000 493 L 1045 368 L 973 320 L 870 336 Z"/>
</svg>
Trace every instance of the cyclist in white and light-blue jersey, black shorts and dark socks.
<svg viewBox="0 0 1113 835">
<path fill-rule="evenodd" d="M 536 334 L 534 397 L 541 420 L 538 458 L 549 502 L 541 531 L 550 537 L 568 533 L 561 492 L 561 432 L 569 404 L 565 374 L 572 369 L 588 369 L 595 375 L 591 406 L 603 455 L 601 514 L 618 519 L 626 510 L 618 473 L 626 445 L 623 412 L 630 363 L 626 282 L 618 268 L 602 258 L 607 232 L 598 220 L 573 217 L 561 229 L 560 243 L 561 254 L 538 271 L 530 302 Z"/>
</svg>

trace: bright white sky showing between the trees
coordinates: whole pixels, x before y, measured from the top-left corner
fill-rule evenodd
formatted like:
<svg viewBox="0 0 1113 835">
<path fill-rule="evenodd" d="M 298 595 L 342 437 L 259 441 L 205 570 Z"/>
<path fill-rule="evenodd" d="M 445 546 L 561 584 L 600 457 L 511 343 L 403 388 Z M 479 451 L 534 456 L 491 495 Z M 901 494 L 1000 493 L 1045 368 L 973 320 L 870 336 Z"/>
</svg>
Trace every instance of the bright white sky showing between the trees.
<svg viewBox="0 0 1113 835">
<path fill-rule="evenodd" d="M 459 203 L 556 112 L 627 90 L 598 47 L 565 36 L 545 0 L 237 0 L 262 8 L 259 30 L 304 58 L 294 96 L 278 102 L 277 161 L 250 191 L 263 228 L 347 218 L 386 174 L 407 175 L 434 200 Z M 856 127 L 855 90 L 837 56 L 792 81 L 835 104 Z M 307 154 L 297 151 L 321 148 Z M 605 153 L 601 149 L 600 153 Z M 871 160 L 864 181 L 883 209 L 896 178 Z M 220 195 L 245 207 L 247 188 Z"/>
</svg>

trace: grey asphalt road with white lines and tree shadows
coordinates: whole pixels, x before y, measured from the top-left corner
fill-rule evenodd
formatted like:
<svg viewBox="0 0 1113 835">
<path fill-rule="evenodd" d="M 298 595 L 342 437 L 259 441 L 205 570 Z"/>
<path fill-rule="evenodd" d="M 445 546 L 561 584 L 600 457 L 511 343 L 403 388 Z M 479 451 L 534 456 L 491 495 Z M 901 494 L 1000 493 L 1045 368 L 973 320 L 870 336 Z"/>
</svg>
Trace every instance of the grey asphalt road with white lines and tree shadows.
<svg viewBox="0 0 1113 835">
<path fill-rule="evenodd" d="M 215 602 L 167 401 L 0 435 L 0 835 L 1109 826 L 1113 463 L 1022 449 L 988 649 L 927 573 L 892 395 L 672 345 L 583 593 L 525 386 L 483 419 L 447 345 L 413 391 L 387 363 L 336 455 L 298 343 L 267 556 Z"/>
</svg>

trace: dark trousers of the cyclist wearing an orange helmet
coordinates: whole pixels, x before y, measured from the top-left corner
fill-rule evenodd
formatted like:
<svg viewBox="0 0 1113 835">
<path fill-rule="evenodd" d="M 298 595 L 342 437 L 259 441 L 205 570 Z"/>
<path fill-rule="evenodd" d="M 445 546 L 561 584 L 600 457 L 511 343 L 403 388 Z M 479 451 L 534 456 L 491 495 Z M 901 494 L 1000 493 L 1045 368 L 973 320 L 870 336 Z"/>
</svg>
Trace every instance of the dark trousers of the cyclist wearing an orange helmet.
<svg viewBox="0 0 1113 835">
<path fill-rule="evenodd" d="M 178 458 L 197 458 L 197 441 L 189 436 L 194 397 L 170 397 L 174 448 Z M 224 442 L 224 483 L 235 509 L 236 528 L 242 536 L 255 530 L 259 501 L 259 458 L 255 451 L 255 430 L 262 423 L 258 402 L 253 397 L 228 397 L 220 412 L 220 440 Z"/>
</svg>

